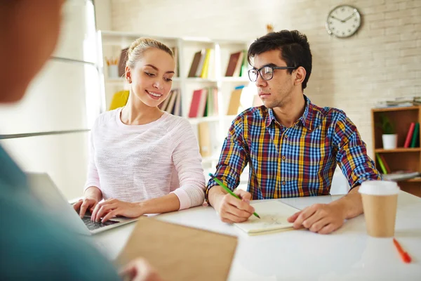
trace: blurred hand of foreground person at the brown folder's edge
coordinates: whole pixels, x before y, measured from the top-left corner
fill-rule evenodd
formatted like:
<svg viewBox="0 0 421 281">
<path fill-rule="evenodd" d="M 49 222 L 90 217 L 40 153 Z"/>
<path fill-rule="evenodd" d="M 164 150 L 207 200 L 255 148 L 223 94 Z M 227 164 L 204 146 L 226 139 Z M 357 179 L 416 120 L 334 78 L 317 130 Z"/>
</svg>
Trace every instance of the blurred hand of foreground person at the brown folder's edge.
<svg viewBox="0 0 421 281">
<path fill-rule="evenodd" d="M 158 272 L 145 259 L 134 259 L 120 271 L 121 277 L 131 281 L 161 281 Z M 124 279 L 126 280 L 126 279 Z"/>
</svg>

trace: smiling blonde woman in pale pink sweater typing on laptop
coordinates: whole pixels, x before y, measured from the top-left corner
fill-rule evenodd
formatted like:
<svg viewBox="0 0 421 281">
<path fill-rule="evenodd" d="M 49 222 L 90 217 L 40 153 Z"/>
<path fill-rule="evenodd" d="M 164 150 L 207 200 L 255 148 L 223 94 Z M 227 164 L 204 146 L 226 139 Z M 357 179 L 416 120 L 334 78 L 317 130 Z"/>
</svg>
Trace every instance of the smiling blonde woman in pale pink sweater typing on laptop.
<svg viewBox="0 0 421 281">
<path fill-rule="evenodd" d="M 105 222 L 203 203 L 205 178 L 192 126 L 158 108 L 171 91 L 174 70 L 168 46 L 147 38 L 131 44 L 128 102 L 93 126 L 85 197 L 74 205 L 80 216 L 88 209 L 93 221 Z"/>
</svg>

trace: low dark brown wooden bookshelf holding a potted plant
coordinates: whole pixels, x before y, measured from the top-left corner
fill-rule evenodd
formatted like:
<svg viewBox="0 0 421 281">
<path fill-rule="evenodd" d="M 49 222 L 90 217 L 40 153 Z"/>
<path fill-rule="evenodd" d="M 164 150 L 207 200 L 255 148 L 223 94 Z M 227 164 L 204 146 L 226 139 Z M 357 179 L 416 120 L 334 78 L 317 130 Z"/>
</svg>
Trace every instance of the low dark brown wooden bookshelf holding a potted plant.
<svg viewBox="0 0 421 281">
<path fill-rule="evenodd" d="M 382 131 L 375 125 L 380 122 L 382 115 L 388 117 L 394 124 L 395 132 L 398 135 L 397 147 L 395 149 L 383 149 Z M 399 170 L 421 172 L 420 131 L 417 133 L 418 141 L 414 148 L 403 147 L 410 124 L 412 122 L 421 123 L 421 106 L 374 108 L 371 110 L 371 117 L 373 151 L 385 159 L 390 170 L 392 172 Z M 377 169 L 382 171 L 377 157 L 374 157 L 374 159 Z M 420 177 L 399 181 L 398 184 L 401 190 L 421 197 Z"/>
</svg>

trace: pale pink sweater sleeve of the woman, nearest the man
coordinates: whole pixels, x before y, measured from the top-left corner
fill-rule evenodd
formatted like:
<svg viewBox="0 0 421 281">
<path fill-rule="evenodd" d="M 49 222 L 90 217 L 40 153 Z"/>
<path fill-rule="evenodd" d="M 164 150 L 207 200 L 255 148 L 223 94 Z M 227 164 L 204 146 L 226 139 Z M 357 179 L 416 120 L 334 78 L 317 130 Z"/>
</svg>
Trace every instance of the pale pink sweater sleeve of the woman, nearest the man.
<svg viewBox="0 0 421 281">
<path fill-rule="evenodd" d="M 182 119 L 174 130 L 175 149 L 173 163 L 178 173 L 180 188 L 173 191 L 180 200 L 180 209 L 203 204 L 205 199 L 205 176 L 201 166 L 199 144 L 192 126 Z"/>
</svg>

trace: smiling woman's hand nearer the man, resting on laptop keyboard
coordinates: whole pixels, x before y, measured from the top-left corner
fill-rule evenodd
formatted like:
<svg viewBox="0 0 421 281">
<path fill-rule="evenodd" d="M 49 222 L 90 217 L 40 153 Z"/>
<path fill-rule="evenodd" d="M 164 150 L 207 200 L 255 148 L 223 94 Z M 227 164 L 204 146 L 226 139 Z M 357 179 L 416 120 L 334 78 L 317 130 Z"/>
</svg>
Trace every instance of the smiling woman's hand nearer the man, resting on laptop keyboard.
<svg viewBox="0 0 421 281">
<path fill-rule="evenodd" d="M 105 215 L 106 214 L 106 215 Z M 126 218 L 137 218 L 142 216 L 143 211 L 140 203 L 123 202 L 116 199 L 109 199 L 100 202 L 93 209 L 91 220 L 100 221 L 102 216 L 102 223 L 108 221 L 113 216 L 126 216 Z"/>
</svg>

